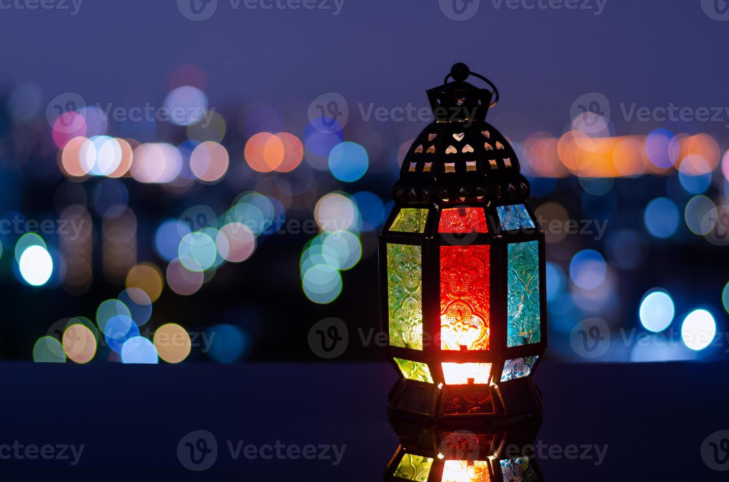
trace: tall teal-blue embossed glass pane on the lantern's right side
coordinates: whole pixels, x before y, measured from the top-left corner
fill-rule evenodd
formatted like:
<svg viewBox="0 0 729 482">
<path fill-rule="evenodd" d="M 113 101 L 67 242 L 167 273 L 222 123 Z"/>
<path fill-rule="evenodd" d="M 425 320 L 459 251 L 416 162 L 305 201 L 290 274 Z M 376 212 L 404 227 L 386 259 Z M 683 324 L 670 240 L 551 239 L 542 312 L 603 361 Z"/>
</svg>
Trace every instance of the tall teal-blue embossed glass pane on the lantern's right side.
<svg viewBox="0 0 729 482">
<path fill-rule="evenodd" d="M 539 343 L 539 242 L 508 246 L 507 346 Z"/>
</svg>

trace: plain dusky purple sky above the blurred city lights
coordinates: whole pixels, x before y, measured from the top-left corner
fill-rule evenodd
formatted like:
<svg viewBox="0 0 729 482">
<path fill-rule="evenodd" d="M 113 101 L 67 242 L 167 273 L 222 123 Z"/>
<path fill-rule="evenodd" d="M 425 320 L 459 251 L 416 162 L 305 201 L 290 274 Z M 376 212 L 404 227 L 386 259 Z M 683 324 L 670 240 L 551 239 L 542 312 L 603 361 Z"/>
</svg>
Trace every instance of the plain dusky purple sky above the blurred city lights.
<svg viewBox="0 0 729 482">
<path fill-rule="evenodd" d="M 592 91 L 614 111 L 634 102 L 729 105 L 729 22 L 712 20 L 701 0 L 600 0 L 601 15 L 597 0 L 577 2 L 589 10 L 480 0 L 465 21 L 446 17 L 438 0 L 344 0 L 338 15 L 218 0 L 199 22 L 175 0 L 85 0 L 77 15 L 71 0 L 69 10 L 14 6 L 23 1 L 0 1 L 11 6 L 0 9 L 0 82 L 34 80 L 46 101 L 71 91 L 89 103 L 160 104 L 171 68 L 196 63 L 208 73 L 211 106 L 256 98 L 305 106 L 329 91 L 351 106 L 425 105 L 423 91 L 463 61 L 496 83 L 499 108 L 521 113 L 531 130 L 559 133 L 572 102 Z M 526 4 L 539 1 L 548 0 Z"/>
</svg>

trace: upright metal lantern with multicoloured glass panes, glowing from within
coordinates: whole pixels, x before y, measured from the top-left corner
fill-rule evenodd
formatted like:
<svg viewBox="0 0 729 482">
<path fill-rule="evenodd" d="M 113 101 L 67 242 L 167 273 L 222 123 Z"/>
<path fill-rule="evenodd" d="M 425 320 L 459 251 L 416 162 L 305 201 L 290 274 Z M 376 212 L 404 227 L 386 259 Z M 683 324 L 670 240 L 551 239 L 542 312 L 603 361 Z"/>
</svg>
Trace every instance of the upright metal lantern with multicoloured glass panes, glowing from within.
<svg viewBox="0 0 729 482">
<path fill-rule="evenodd" d="M 542 408 L 531 374 L 547 343 L 545 240 L 525 204 L 529 182 L 486 122 L 494 84 L 458 63 L 427 95 L 435 120 L 405 154 L 379 244 L 383 329 L 402 377 L 389 409 L 526 416 Z"/>
</svg>

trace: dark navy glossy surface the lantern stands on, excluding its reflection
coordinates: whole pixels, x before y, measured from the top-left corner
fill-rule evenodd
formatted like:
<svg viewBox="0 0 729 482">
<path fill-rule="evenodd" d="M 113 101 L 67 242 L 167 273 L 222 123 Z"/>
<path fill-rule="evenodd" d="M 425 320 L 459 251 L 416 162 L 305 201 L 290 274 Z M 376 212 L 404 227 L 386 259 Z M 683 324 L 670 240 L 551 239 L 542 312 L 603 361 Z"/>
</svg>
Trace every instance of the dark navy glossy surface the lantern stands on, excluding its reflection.
<svg viewBox="0 0 729 482">
<path fill-rule="evenodd" d="M 542 363 L 545 481 L 727 480 L 701 447 L 729 430 L 728 368 Z M 386 364 L 3 363 L 0 376 L 3 480 L 380 481 L 398 445 Z M 729 438 L 706 447 L 729 469 Z"/>
</svg>

